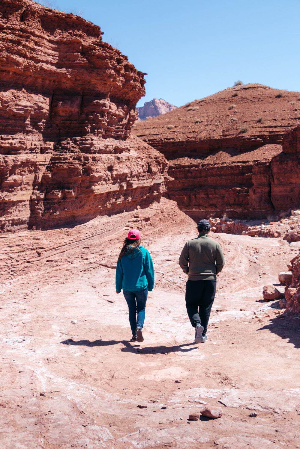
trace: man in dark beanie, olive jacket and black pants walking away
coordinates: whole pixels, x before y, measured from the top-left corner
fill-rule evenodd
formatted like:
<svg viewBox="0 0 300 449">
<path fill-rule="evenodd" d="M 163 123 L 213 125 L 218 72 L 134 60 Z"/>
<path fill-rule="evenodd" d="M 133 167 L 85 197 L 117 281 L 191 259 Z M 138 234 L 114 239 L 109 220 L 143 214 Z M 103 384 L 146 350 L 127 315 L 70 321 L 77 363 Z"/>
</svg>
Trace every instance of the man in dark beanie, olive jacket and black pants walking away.
<svg viewBox="0 0 300 449">
<path fill-rule="evenodd" d="M 218 242 L 208 237 L 210 222 L 200 220 L 198 237 L 188 240 L 179 257 L 179 265 L 188 274 L 185 305 L 188 317 L 195 327 L 195 343 L 204 343 L 215 299 L 216 275 L 225 265 L 223 251 Z"/>
</svg>

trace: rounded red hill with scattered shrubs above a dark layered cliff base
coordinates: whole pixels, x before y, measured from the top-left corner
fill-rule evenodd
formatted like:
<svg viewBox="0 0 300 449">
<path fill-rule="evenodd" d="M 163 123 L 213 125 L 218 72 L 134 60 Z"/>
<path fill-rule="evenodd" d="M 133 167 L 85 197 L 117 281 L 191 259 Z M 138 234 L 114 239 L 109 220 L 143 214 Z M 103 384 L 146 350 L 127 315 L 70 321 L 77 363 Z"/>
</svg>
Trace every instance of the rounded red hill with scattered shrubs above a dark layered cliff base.
<svg viewBox="0 0 300 449">
<path fill-rule="evenodd" d="M 299 124 L 299 92 L 248 84 L 139 123 L 134 133 L 166 155 L 174 178 L 167 196 L 189 216 L 259 218 L 299 205 Z"/>
</svg>

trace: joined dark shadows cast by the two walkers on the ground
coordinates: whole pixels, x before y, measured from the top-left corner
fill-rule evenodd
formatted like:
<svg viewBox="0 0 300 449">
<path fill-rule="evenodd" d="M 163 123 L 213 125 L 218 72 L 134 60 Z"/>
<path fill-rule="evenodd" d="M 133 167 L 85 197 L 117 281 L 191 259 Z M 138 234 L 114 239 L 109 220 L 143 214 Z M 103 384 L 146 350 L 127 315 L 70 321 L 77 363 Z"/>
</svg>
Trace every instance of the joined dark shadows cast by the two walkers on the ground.
<svg viewBox="0 0 300 449">
<path fill-rule="evenodd" d="M 176 346 L 149 346 L 149 347 L 144 347 L 141 348 L 139 346 L 139 344 L 130 344 L 129 341 L 127 340 L 108 340 L 108 341 L 104 341 L 104 340 L 95 340 L 95 341 L 90 341 L 90 340 L 78 340 L 78 341 L 74 341 L 72 339 L 67 339 L 62 341 L 61 343 L 66 344 L 66 345 L 72 345 L 72 346 L 88 346 L 88 347 L 93 347 L 93 346 L 112 346 L 114 344 L 119 344 L 122 343 L 125 348 L 121 348 L 122 352 L 133 352 L 134 354 L 139 353 L 139 354 L 170 354 L 170 352 L 189 352 L 189 351 L 193 351 L 193 349 L 197 349 L 197 346 L 194 346 L 193 348 L 184 348 L 185 346 L 191 346 L 191 345 L 195 345 L 195 343 L 186 343 L 186 344 L 179 344 Z"/>
</svg>

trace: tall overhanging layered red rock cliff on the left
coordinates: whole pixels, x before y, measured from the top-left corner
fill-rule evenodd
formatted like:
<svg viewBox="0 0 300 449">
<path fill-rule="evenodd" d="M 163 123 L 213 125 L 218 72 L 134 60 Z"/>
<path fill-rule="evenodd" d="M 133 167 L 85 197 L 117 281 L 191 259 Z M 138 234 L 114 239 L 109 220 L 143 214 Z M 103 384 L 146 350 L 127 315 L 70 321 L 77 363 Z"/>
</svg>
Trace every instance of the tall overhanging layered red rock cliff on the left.
<svg viewBox="0 0 300 449">
<path fill-rule="evenodd" d="M 100 28 L 30 0 L 0 3 L 0 230 L 147 207 L 166 159 L 130 136 L 143 73 Z"/>
</svg>

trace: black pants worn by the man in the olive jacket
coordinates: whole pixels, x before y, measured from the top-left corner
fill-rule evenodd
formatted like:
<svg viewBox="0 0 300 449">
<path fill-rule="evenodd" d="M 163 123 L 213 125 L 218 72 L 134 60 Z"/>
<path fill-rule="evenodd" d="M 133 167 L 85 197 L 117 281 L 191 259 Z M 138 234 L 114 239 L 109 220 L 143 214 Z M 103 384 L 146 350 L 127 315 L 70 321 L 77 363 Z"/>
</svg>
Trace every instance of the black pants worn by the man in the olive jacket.
<svg viewBox="0 0 300 449">
<path fill-rule="evenodd" d="M 188 317 L 193 327 L 197 323 L 203 326 L 202 335 L 206 334 L 210 318 L 210 310 L 215 299 L 217 281 L 187 281 L 185 290 L 185 305 Z"/>
</svg>

